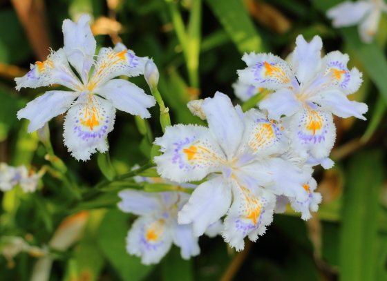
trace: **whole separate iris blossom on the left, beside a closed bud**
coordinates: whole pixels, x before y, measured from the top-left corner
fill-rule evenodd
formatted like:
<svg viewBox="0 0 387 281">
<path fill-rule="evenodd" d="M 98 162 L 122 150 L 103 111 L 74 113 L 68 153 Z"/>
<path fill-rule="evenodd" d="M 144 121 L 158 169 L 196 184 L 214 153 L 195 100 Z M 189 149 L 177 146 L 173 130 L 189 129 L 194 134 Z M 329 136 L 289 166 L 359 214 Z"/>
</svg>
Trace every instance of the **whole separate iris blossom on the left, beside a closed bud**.
<svg viewBox="0 0 387 281">
<path fill-rule="evenodd" d="M 51 84 L 70 89 L 52 90 L 37 97 L 19 110 L 17 117 L 30 120 L 28 132 L 32 133 L 68 110 L 64 144 L 76 159 L 84 161 L 90 159 L 96 149 L 102 153 L 108 149 L 105 139 L 113 130 L 115 108 L 148 118 L 151 115 L 147 108 L 155 105 L 155 99 L 135 84 L 113 79 L 120 75 L 143 74 L 148 58 L 137 57 L 120 44 L 114 49 L 101 48 L 95 61 L 96 41 L 88 26 L 90 19 L 87 14 L 79 17 L 77 23 L 66 19 L 64 48 L 52 51 L 46 61 L 37 61 L 27 75 L 15 79 L 17 90 Z"/>
</svg>

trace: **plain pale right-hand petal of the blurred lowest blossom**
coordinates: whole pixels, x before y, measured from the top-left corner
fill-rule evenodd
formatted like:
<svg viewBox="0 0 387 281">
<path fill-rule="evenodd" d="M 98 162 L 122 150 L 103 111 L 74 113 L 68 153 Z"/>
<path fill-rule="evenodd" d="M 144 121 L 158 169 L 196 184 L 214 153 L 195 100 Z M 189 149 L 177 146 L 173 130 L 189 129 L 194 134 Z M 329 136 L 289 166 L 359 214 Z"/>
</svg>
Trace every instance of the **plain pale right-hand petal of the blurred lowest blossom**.
<svg viewBox="0 0 387 281">
<path fill-rule="evenodd" d="M 180 247 L 180 255 L 183 259 L 200 254 L 199 238 L 193 237 L 191 224 L 173 224 L 173 243 Z"/>
</svg>

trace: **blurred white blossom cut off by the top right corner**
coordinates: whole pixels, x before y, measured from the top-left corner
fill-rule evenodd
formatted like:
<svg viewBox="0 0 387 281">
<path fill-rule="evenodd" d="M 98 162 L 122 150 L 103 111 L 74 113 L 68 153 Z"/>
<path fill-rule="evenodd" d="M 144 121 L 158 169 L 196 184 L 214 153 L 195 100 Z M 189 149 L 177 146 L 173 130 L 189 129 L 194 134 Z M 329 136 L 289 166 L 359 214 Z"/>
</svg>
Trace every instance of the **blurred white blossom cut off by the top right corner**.
<svg viewBox="0 0 387 281">
<path fill-rule="evenodd" d="M 332 26 L 343 28 L 359 25 L 359 35 L 364 43 L 371 43 L 377 34 L 382 12 L 387 12 L 384 0 L 345 1 L 330 8 L 327 17 Z"/>
</svg>

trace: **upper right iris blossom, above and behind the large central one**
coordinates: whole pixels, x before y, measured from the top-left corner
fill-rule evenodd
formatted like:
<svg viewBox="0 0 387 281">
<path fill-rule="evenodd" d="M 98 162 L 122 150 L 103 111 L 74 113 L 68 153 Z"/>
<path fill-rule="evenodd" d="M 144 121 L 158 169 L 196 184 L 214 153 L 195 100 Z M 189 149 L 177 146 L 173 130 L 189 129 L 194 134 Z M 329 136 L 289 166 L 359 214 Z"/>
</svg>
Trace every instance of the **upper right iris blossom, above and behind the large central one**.
<svg viewBox="0 0 387 281">
<path fill-rule="evenodd" d="M 243 56 L 248 67 L 238 70 L 243 83 L 274 90 L 260 108 L 268 111 L 269 119 L 291 117 L 292 150 L 316 159 L 327 157 L 334 144 L 332 113 L 365 120 L 368 110 L 366 104 L 347 97 L 359 89 L 361 72 L 348 70 L 349 57 L 339 51 L 321 58 L 321 48 L 320 37 L 308 43 L 299 35 L 290 63 L 272 54 L 251 52 Z"/>
</svg>

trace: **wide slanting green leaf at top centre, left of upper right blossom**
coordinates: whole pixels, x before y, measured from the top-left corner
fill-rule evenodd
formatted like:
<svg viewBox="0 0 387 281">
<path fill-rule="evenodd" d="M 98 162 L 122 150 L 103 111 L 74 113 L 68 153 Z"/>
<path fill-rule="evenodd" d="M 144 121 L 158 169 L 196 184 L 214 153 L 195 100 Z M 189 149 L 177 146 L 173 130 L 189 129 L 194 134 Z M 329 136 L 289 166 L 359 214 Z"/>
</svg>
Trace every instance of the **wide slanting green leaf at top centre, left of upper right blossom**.
<svg viewBox="0 0 387 281">
<path fill-rule="evenodd" d="M 265 51 L 261 36 L 256 31 L 252 19 L 243 6 L 243 1 L 206 0 L 206 2 L 240 53 Z"/>
</svg>

